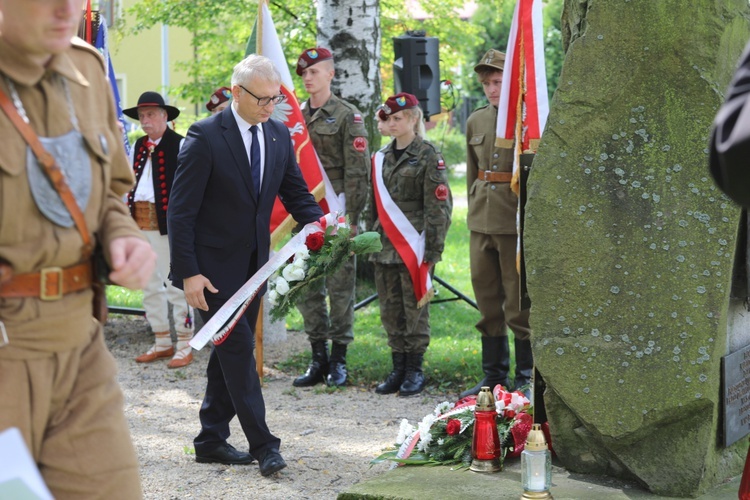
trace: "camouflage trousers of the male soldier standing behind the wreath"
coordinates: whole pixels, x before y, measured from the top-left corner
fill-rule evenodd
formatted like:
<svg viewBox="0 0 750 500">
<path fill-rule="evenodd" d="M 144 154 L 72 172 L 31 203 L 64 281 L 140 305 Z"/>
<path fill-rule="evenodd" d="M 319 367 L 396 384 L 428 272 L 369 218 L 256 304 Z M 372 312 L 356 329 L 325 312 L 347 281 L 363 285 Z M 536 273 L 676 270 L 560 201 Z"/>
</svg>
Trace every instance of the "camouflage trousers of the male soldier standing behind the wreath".
<svg viewBox="0 0 750 500">
<path fill-rule="evenodd" d="M 354 340 L 354 286 L 357 278 L 356 256 L 352 256 L 334 274 L 321 280 L 297 303 L 310 342 L 332 340 L 349 344 Z M 330 312 L 326 298 L 330 298 Z"/>
</svg>

